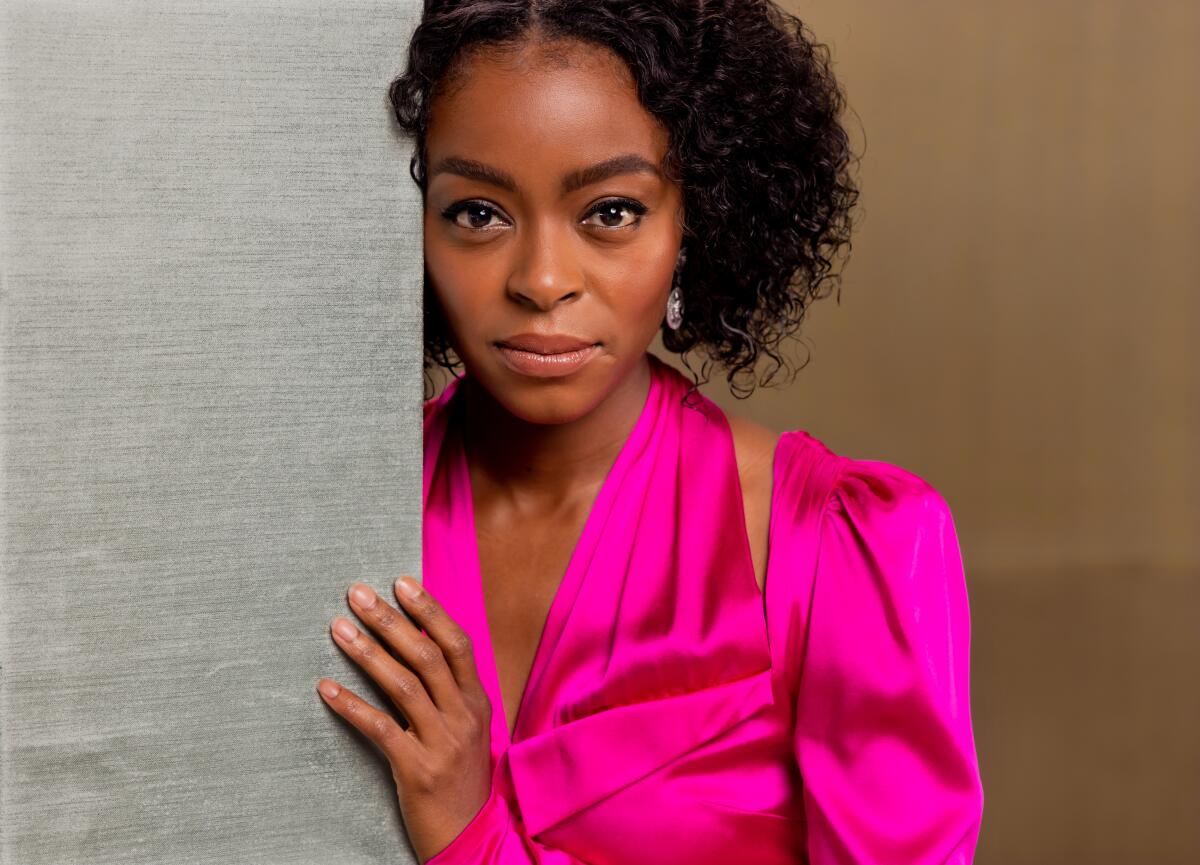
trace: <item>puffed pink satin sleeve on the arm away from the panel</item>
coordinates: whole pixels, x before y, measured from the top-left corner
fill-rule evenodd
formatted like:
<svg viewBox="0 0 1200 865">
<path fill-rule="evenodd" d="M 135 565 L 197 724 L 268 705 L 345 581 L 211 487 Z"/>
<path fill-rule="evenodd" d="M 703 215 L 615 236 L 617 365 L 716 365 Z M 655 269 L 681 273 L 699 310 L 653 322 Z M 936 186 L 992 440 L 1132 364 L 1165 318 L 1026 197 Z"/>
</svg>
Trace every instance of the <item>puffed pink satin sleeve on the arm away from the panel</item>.
<svg viewBox="0 0 1200 865">
<path fill-rule="evenodd" d="M 965 865 L 983 785 L 971 624 L 941 494 L 844 458 L 821 516 L 793 750 L 812 865 Z"/>
</svg>

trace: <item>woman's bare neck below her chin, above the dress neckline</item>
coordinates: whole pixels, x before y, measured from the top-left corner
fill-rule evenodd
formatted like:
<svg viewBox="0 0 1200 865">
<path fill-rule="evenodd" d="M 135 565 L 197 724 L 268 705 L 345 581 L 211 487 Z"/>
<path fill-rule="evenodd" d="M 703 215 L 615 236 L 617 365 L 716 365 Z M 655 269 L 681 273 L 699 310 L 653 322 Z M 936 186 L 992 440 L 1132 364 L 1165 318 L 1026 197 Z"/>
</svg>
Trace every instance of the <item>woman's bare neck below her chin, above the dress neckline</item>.
<svg viewBox="0 0 1200 865">
<path fill-rule="evenodd" d="M 463 444 L 473 480 L 547 506 L 594 492 L 637 424 L 650 376 L 643 354 L 595 408 L 565 424 L 517 418 L 476 380 L 463 379 Z"/>
</svg>

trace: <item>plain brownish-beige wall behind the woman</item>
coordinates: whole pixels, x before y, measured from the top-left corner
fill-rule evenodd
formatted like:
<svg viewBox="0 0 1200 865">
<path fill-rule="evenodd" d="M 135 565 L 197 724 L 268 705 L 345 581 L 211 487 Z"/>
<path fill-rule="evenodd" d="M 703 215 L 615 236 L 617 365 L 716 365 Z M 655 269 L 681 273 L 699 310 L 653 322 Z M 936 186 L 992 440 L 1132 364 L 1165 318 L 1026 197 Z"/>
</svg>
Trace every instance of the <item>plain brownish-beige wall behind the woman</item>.
<svg viewBox="0 0 1200 865">
<path fill-rule="evenodd" d="M 857 113 L 862 222 L 796 382 L 706 394 L 949 501 L 977 861 L 1200 861 L 1200 5 L 782 5 Z"/>
</svg>

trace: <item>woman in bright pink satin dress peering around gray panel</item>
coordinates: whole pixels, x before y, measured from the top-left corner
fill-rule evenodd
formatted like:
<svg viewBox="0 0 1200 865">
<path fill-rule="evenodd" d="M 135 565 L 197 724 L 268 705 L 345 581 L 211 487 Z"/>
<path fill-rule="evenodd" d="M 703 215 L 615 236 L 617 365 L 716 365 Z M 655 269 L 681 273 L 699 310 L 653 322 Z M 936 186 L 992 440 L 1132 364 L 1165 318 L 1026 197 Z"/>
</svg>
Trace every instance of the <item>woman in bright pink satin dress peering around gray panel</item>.
<svg viewBox="0 0 1200 865">
<path fill-rule="evenodd" d="M 425 406 L 412 621 L 361 584 L 364 630 L 335 620 L 398 713 L 320 685 L 388 756 L 418 858 L 970 861 L 946 503 L 647 352 L 661 330 L 733 385 L 835 281 L 827 53 L 764 0 L 428 2 L 390 95 L 426 365 L 463 374 Z"/>
</svg>

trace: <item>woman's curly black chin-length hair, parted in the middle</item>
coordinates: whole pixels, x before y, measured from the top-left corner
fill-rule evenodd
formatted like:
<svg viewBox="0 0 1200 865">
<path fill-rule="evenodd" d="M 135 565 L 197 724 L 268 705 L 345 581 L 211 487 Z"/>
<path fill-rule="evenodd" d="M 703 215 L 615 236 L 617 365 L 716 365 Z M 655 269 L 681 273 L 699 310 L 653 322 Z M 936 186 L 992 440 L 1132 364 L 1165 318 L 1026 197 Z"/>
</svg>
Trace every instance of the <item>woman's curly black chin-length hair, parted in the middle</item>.
<svg viewBox="0 0 1200 865">
<path fill-rule="evenodd" d="M 662 329 L 695 388 L 713 362 L 731 391 L 761 355 L 769 385 L 787 368 L 781 342 L 812 300 L 836 286 L 848 256 L 858 157 L 841 124 L 845 96 L 829 49 L 770 0 L 426 0 L 408 67 L 388 96 L 416 139 L 409 173 L 426 192 L 430 107 L 464 52 L 574 38 L 614 52 L 646 110 L 670 133 L 664 169 L 680 184 L 686 316 Z M 686 353 L 707 359 L 696 376 Z M 454 372 L 448 328 L 425 277 L 425 370 Z M 800 367 L 808 364 L 808 358 Z M 794 376 L 792 371 L 788 379 Z"/>
</svg>

